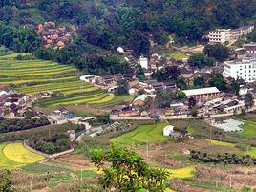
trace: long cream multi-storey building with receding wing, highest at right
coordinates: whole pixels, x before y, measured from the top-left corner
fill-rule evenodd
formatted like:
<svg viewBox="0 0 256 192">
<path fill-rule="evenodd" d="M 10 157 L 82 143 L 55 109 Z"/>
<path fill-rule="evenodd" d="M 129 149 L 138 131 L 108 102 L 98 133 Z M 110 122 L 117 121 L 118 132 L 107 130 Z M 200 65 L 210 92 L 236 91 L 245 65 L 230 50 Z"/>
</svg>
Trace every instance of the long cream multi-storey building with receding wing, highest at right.
<svg viewBox="0 0 256 192">
<path fill-rule="evenodd" d="M 237 29 L 216 29 L 209 32 L 209 43 L 222 43 L 237 40 L 239 37 L 252 32 L 254 26 L 243 26 Z"/>
</svg>

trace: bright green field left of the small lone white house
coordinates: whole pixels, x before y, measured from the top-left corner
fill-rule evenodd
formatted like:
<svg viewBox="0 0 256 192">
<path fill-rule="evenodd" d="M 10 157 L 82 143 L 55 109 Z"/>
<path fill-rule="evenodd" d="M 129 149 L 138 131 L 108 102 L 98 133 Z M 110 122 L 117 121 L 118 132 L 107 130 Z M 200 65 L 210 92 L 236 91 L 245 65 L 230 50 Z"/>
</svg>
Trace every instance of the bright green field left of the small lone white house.
<svg viewBox="0 0 256 192">
<path fill-rule="evenodd" d="M 139 125 L 136 130 L 111 139 L 111 141 L 121 144 L 138 144 L 165 141 L 169 138 L 162 135 L 162 129 L 167 125 L 168 123 L 159 123 L 156 127 L 154 124 Z"/>
</svg>

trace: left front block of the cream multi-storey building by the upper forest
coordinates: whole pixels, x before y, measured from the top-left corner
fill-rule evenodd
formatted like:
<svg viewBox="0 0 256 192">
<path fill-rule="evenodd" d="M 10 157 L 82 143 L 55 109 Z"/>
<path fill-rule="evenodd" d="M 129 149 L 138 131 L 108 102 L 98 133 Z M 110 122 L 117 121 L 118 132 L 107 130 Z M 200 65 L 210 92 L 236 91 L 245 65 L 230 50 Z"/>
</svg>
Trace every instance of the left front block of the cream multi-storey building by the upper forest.
<svg viewBox="0 0 256 192">
<path fill-rule="evenodd" d="M 209 32 L 209 43 L 222 43 L 229 41 L 231 37 L 230 29 L 216 29 Z"/>
</svg>

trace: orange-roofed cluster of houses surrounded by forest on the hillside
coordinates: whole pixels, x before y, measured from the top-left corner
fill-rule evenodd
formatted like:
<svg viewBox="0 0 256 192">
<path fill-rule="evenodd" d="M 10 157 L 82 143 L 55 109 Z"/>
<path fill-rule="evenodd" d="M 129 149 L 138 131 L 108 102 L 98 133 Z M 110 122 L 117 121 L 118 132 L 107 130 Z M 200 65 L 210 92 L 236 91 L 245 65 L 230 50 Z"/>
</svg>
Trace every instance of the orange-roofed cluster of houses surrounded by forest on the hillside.
<svg viewBox="0 0 256 192">
<path fill-rule="evenodd" d="M 36 33 L 42 36 L 45 48 L 62 48 L 75 32 L 75 26 L 57 25 L 56 22 L 49 21 L 37 26 Z"/>
</svg>

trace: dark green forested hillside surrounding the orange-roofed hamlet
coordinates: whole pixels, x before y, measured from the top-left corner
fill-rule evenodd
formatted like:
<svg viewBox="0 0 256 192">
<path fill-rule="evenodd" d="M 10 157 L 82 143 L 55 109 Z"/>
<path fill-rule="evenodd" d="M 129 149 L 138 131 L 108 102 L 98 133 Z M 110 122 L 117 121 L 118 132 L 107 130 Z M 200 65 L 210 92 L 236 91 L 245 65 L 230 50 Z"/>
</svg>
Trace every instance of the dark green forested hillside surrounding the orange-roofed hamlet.
<svg viewBox="0 0 256 192">
<path fill-rule="evenodd" d="M 176 46 L 195 45 L 209 30 L 254 24 L 256 18 L 254 0 L 0 2 L 0 44 L 96 75 L 130 73 L 127 63 L 117 58 L 118 46 L 139 57 L 150 53 L 150 42 L 165 45 L 169 34 L 174 34 Z M 41 37 L 33 30 L 46 21 L 75 27 L 64 49 L 41 48 Z"/>
</svg>

